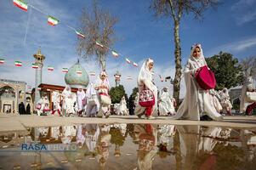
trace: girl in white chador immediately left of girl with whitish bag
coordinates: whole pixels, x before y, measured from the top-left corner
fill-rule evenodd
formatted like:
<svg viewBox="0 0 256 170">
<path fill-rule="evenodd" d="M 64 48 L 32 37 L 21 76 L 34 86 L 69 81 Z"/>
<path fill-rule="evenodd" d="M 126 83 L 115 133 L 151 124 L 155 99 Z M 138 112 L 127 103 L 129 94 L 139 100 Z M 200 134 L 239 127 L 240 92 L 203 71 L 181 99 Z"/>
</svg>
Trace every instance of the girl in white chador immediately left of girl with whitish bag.
<svg viewBox="0 0 256 170">
<path fill-rule="evenodd" d="M 100 109 L 100 102 L 96 94 L 96 90 L 94 89 L 94 84 L 90 83 L 86 90 L 86 116 L 96 116 L 97 112 Z"/>
</svg>

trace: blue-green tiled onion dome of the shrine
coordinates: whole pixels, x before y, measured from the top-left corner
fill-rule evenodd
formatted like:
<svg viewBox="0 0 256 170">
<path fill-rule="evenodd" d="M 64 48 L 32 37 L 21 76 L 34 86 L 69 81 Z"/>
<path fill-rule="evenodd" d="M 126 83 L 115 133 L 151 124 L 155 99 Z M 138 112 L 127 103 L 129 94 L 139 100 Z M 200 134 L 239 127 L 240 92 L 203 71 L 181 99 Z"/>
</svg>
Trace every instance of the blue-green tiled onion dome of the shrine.
<svg viewBox="0 0 256 170">
<path fill-rule="evenodd" d="M 87 72 L 79 64 L 79 61 L 72 65 L 65 74 L 65 83 L 71 88 L 86 88 L 88 86 L 89 77 Z"/>
</svg>

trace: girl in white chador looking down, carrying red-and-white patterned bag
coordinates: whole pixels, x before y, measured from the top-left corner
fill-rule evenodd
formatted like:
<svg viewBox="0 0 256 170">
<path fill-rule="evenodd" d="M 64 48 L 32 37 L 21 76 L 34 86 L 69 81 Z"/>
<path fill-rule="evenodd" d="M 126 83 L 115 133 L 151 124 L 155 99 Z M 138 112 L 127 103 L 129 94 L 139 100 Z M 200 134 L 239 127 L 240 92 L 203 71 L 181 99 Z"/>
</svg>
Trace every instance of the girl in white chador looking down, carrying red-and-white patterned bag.
<svg viewBox="0 0 256 170">
<path fill-rule="evenodd" d="M 142 92 L 143 89 L 150 89 L 153 92 L 155 97 L 155 105 L 153 105 L 151 108 L 136 105 L 134 113 L 139 118 L 144 114 L 145 114 L 145 117 L 149 119 L 154 118 L 153 116 L 157 116 L 157 88 L 155 84 L 152 82 L 153 66 L 154 66 L 154 60 L 146 59 L 139 71 L 139 77 L 137 79 L 139 94 Z"/>
</svg>

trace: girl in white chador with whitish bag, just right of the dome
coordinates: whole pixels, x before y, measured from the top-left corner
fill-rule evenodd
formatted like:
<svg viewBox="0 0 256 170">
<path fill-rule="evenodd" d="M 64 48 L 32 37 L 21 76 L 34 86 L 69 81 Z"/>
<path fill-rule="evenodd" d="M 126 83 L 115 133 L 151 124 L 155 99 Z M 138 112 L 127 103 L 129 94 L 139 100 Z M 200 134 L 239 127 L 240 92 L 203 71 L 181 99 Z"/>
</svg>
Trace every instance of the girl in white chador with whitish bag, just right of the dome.
<svg viewBox="0 0 256 170">
<path fill-rule="evenodd" d="M 97 116 L 100 116 L 100 117 L 105 116 L 105 118 L 107 118 L 111 114 L 110 105 L 104 104 L 100 100 L 100 94 L 108 95 L 109 89 L 110 89 L 110 82 L 107 78 L 107 74 L 105 71 L 100 72 L 100 77 L 96 80 L 96 83 L 95 83 L 95 89 L 97 90 L 98 99 L 100 101 L 100 110 Z"/>
</svg>

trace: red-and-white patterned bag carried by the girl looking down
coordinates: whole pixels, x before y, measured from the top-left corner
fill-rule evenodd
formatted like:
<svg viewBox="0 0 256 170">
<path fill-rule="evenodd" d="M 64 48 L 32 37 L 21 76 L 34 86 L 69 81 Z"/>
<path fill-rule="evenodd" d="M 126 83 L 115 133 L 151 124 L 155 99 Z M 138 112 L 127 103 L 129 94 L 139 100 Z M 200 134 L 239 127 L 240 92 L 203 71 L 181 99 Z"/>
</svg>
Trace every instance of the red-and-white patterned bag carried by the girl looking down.
<svg viewBox="0 0 256 170">
<path fill-rule="evenodd" d="M 151 107 L 155 105 L 155 96 L 150 89 L 143 89 L 139 94 L 139 105 L 142 107 Z"/>
</svg>

